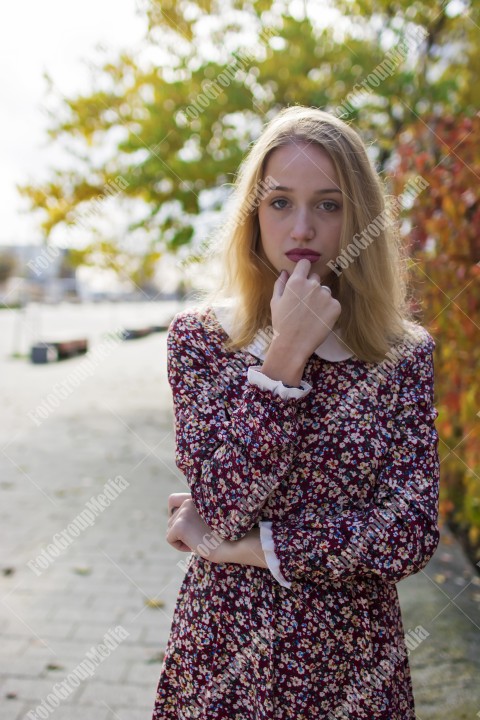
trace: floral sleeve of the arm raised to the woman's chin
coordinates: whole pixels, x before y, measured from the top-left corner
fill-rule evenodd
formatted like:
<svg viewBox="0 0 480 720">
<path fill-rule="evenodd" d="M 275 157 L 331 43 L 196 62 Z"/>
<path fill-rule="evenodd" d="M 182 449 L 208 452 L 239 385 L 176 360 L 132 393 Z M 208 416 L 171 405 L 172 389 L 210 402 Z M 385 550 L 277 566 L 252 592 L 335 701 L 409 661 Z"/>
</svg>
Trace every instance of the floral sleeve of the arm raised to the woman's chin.
<svg viewBox="0 0 480 720">
<path fill-rule="evenodd" d="M 191 312 L 180 313 L 170 325 L 167 369 L 177 467 L 206 524 L 225 540 L 239 540 L 288 478 L 298 438 L 298 399 L 308 387 L 291 389 L 284 398 L 255 384 L 254 375 L 249 382 L 238 356 L 226 364 Z M 228 384 L 242 373 L 241 392 L 234 404 L 227 403 Z"/>
</svg>

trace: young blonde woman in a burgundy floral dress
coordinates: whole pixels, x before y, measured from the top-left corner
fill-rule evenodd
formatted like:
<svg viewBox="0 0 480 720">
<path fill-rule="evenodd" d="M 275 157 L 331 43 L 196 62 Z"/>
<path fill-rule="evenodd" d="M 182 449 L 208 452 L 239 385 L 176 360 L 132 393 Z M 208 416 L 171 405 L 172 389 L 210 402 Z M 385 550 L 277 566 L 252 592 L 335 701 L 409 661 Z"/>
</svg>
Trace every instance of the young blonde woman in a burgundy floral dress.
<svg viewBox="0 0 480 720">
<path fill-rule="evenodd" d="M 294 107 L 244 162 L 224 302 L 168 335 L 167 540 L 192 552 L 154 720 L 414 720 L 396 583 L 438 542 L 434 343 L 357 133 Z"/>
</svg>

